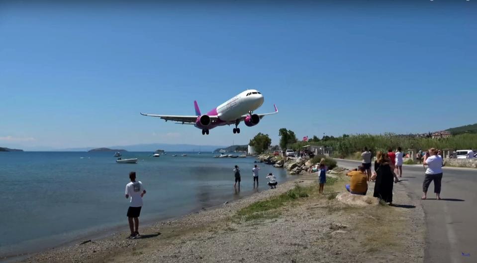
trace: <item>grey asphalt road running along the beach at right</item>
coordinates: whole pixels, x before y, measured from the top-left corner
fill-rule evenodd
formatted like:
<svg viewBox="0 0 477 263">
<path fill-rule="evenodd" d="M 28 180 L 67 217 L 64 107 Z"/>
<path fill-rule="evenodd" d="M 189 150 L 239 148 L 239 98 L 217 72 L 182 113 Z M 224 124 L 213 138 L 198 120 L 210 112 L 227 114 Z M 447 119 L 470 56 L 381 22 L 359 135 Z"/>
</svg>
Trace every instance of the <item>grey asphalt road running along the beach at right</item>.
<svg viewBox="0 0 477 263">
<path fill-rule="evenodd" d="M 357 168 L 360 161 L 337 159 L 338 165 Z M 442 200 L 436 200 L 434 184 L 422 200 L 427 225 L 425 263 L 477 262 L 477 169 L 443 168 Z M 374 171 L 374 167 L 372 167 Z M 422 196 L 424 168 L 404 165 L 399 182 L 412 199 Z M 393 200 L 399 203 L 399 200 Z M 400 204 L 400 203 L 399 203 Z"/>
</svg>

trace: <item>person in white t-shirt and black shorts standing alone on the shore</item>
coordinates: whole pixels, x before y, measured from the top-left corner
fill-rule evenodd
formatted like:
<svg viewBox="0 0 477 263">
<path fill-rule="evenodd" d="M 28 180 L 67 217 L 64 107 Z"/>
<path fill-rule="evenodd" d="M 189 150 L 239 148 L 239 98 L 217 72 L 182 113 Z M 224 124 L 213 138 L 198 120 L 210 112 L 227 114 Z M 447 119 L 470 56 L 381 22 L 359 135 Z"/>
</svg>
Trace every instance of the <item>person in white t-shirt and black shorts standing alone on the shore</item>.
<svg viewBox="0 0 477 263">
<path fill-rule="evenodd" d="M 140 181 L 136 181 L 136 172 L 130 172 L 129 179 L 131 179 L 131 182 L 126 184 L 125 195 L 126 199 L 131 199 L 126 216 L 131 230 L 129 238 L 135 239 L 139 236 L 139 215 L 141 214 L 142 197 L 146 194 L 146 190 L 144 190 Z"/>
</svg>

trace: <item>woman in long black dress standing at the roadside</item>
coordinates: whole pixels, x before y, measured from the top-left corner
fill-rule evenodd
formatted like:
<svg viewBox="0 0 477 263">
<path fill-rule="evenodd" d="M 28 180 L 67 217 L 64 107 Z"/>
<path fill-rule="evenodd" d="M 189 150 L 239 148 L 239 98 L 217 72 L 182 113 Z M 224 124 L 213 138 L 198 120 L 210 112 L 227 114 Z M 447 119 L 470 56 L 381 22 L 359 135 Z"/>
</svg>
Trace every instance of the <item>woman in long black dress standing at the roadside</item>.
<svg viewBox="0 0 477 263">
<path fill-rule="evenodd" d="M 396 174 L 394 174 L 393 167 L 387 153 L 379 151 L 376 155 L 375 171 L 376 184 L 374 197 L 378 197 L 386 203 L 392 204 L 392 186 L 394 182 L 398 182 Z M 394 179 L 394 180 L 393 180 Z M 394 181 L 394 182 L 393 182 Z"/>
</svg>

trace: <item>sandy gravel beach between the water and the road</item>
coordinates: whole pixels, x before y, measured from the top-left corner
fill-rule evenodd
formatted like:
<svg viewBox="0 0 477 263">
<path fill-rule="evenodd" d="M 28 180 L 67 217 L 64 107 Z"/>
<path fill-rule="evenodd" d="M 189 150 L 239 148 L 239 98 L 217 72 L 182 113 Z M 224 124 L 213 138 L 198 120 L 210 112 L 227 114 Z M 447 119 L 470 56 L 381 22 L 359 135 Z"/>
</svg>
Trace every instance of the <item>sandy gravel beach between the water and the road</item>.
<svg viewBox="0 0 477 263">
<path fill-rule="evenodd" d="M 230 203 L 85 244 L 52 249 L 23 262 L 422 262 L 425 229 L 418 200 L 394 185 L 396 206 L 353 207 L 335 199 L 348 180 L 317 194 L 315 174 L 304 174 Z M 296 185 L 309 196 L 264 212 L 243 214 L 253 203 L 277 198 Z M 373 193 L 370 183 L 368 195 Z M 231 189 L 233 190 L 233 188 Z"/>
</svg>

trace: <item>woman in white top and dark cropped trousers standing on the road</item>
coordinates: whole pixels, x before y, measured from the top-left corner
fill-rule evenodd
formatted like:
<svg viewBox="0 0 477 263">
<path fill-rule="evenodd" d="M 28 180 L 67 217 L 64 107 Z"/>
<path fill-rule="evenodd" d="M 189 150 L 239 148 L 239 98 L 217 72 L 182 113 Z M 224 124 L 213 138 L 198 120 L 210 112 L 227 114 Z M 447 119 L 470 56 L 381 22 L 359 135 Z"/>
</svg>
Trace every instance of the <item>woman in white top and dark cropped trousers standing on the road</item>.
<svg viewBox="0 0 477 263">
<path fill-rule="evenodd" d="M 424 165 L 427 165 L 426 177 L 422 183 L 423 200 L 427 199 L 427 189 L 432 181 L 434 181 L 434 193 L 437 200 L 441 200 L 441 180 L 442 180 L 442 157 L 437 155 L 435 148 L 430 148 L 429 152 L 424 156 Z"/>
</svg>

